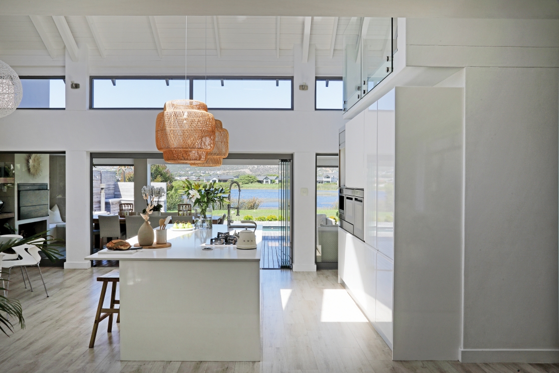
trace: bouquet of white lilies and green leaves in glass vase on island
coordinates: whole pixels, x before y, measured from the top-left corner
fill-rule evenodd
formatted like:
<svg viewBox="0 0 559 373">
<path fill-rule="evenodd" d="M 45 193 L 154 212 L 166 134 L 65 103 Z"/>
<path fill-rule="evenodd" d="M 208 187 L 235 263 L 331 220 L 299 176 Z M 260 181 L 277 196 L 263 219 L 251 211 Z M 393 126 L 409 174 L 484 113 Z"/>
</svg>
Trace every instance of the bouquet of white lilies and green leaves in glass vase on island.
<svg viewBox="0 0 559 373">
<path fill-rule="evenodd" d="M 215 182 L 205 183 L 184 180 L 182 184 L 183 189 L 179 192 L 188 196 L 192 201 L 192 207 L 200 209 L 200 228 L 211 229 L 211 216 L 206 216 L 207 210 L 210 206 L 215 210 L 216 206 L 221 209 L 223 205 L 229 204 L 230 202 L 227 199 L 230 193 L 229 188 L 216 186 Z"/>
</svg>

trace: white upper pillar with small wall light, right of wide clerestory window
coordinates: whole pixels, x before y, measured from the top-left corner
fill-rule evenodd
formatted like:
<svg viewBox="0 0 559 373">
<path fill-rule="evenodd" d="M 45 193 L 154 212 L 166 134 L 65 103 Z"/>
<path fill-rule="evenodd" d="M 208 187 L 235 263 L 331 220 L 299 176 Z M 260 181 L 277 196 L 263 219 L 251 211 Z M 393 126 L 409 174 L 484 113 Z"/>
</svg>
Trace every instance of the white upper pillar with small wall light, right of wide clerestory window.
<svg viewBox="0 0 559 373">
<path fill-rule="evenodd" d="M 309 45 L 309 59 L 301 62 L 302 46 L 293 45 L 293 110 L 314 111 L 315 106 L 315 45 Z M 309 88 L 301 91 L 299 86 L 306 83 Z"/>
</svg>

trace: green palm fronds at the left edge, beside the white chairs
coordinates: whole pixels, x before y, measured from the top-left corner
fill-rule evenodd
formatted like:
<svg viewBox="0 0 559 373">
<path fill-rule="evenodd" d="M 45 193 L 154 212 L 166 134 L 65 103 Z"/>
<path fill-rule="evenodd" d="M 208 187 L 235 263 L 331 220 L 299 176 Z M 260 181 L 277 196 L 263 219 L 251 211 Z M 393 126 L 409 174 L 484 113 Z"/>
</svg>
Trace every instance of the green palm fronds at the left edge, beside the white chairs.
<svg viewBox="0 0 559 373">
<path fill-rule="evenodd" d="M 63 239 L 56 239 L 50 235 L 46 235 L 45 232 L 37 233 L 32 235 L 31 237 L 23 238 L 23 239 L 13 239 L 7 242 L 0 243 L 0 253 L 5 252 L 8 249 L 13 247 L 23 245 L 23 244 L 34 244 L 39 247 L 43 254 L 51 262 L 55 262 L 56 259 L 60 257 L 60 252 L 58 251 L 58 247 L 63 246 L 64 240 Z M 35 241 L 39 238 L 45 238 L 44 241 L 36 242 Z M 4 271 L 2 271 L 4 273 Z M 2 284 L 4 281 L 7 281 L 5 278 L 0 278 Z M 25 328 L 25 320 L 23 319 L 23 309 L 21 308 L 21 303 L 17 299 L 7 298 L 6 296 L 2 295 L 3 291 L 5 291 L 3 286 L 0 287 L 0 331 L 6 336 L 8 336 L 8 331 L 13 333 L 13 324 L 10 322 L 8 317 L 13 317 L 17 319 L 17 323 L 20 324 L 20 327 L 23 329 Z M 6 329 L 4 329 L 6 328 Z"/>
</svg>

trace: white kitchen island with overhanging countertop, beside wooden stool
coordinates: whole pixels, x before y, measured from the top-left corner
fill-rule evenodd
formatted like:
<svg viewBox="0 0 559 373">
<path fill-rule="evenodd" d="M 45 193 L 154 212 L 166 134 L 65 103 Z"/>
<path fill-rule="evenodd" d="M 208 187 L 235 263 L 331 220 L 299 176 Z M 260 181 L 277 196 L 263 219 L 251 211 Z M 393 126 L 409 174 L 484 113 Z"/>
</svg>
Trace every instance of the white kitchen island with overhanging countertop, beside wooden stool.
<svg viewBox="0 0 559 373">
<path fill-rule="evenodd" d="M 257 249 L 203 251 L 217 232 L 228 228 L 168 230 L 169 248 L 86 257 L 120 261 L 121 360 L 260 361 L 262 230 Z"/>
</svg>

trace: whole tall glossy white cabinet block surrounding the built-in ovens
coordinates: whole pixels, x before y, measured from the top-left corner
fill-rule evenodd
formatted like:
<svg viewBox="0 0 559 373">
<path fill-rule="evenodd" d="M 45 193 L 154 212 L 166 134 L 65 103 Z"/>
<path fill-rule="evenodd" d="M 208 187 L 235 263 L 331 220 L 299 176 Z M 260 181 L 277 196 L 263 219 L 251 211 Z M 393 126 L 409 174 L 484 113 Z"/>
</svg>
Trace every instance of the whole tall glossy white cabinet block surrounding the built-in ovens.
<svg viewBox="0 0 559 373">
<path fill-rule="evenodd" d="M 339 275 L 394 360 L 457 360 L 462 106 L 461 88 L 396 87 L 345 126 L 365 234 L 340 228 Z"/>
</svg>

